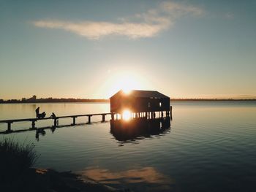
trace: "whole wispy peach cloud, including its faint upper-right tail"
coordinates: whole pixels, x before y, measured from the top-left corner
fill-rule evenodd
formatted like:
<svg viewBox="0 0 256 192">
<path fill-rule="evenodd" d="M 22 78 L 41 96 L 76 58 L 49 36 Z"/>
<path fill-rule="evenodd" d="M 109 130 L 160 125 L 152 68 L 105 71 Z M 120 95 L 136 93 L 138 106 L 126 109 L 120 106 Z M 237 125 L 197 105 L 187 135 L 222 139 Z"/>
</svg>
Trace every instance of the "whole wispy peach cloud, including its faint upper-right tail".
<svg viewBox="0 0 256 192">
<path fill-rule="evenodd" d="M 191 5 L 162 2 L 157 9 L 123 19 L 121 23 L 85 20 L 74 23 L 64 20 L 36 20 L 34 26 L 70 31 L 88 39 L 99 39 L 109 35 L 126 36 L 131 39 L 154 37 L 173 26 L 176 18 L 182 15 L 202 15 L 203 9 Z"/>
</svg>

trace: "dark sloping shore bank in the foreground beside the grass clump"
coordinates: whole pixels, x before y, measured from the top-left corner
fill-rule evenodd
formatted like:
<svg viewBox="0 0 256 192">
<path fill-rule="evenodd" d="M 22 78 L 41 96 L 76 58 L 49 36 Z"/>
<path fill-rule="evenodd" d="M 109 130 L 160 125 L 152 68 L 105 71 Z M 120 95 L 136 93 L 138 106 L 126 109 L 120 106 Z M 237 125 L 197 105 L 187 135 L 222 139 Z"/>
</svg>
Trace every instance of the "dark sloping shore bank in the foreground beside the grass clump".
<svg viewBox="0 0 256 192">
<path fill-rule="evenodd" d="M 2 188 L 3 189 L 3 188 Z M 23 177 L 13 180 L 3 191 L 37 192 L 128 192 L 129 189 L 116 189 L 102 185 L 88 177 L 72 172 L 56 172 L 53 169 L 29 169 Z"/>
</svg>

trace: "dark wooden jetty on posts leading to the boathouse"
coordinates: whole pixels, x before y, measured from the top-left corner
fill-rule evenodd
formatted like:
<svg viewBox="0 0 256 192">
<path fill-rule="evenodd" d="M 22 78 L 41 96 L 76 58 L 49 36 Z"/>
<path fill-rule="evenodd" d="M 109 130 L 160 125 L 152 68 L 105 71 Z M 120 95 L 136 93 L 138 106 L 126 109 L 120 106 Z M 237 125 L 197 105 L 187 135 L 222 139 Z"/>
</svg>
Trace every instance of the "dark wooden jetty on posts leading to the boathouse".
<svg viewBox="0 0 256 192">
<path fill-rule="evenodd" d="M 36 122 L 38 120 L 53 120 L 53 126 L 58 126 L 58 120 L 61 118 L 72 118 L 72 126 L 75 126 L 75 119 L 79 117 L 88 117 L 88 123 L 91 123 L 91 117 L 92 116 L 102 116 L 102 122 L 105 122 L 105 116 L 106 115 L 115 115 L 113 112 L 106 112 L 106 113 L 95 113 L 95 114 L 86 114 L 86 115 L 67 115 L 67 116 L 59 116 L 56 118 L 26 118 L 26 119 L 12 119 L 12 120 L 0 120 L 0 123 L 7 123 L 7 131 L 5 132 L 12 132 L 12 123 L 15 122 L 31 122 L 31 129 L 37 129 L 36 128 Z"/>
</svg>

